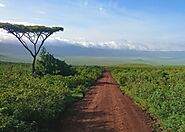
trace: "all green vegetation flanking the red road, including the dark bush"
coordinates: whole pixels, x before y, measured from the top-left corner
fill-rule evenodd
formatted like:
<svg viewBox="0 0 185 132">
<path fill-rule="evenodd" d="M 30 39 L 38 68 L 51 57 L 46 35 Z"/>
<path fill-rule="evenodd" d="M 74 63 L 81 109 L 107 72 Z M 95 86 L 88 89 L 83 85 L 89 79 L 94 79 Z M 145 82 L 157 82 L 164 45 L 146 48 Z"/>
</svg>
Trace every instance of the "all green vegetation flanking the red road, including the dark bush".
<svg viewBox="0 0 185 132">
<path fill-rule="evenodd" d="M 185 67 L 141 64 L 108 67 L 121 86 L 164 131 L 185 131 Z M 0 131 L 47 131 L 83 98 L 103 71 L 70 66 L 43 50 L 37 76 L 31 64 L 0 62 Z"/>
</svg>

